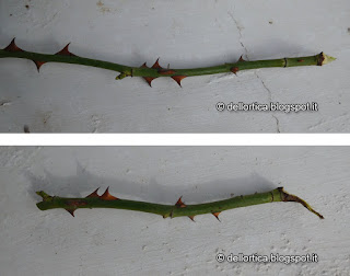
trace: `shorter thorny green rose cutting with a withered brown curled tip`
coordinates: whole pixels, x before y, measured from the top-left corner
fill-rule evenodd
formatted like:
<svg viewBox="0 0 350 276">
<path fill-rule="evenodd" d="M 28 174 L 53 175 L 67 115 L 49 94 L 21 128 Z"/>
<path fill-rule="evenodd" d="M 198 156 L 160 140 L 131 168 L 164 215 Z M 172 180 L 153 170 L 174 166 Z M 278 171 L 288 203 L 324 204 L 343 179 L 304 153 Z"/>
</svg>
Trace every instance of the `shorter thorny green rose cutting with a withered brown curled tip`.
<svg viewBox="0 0 350 276">
<path fill-rule="evenodd" d="M 221 211 L 247 207 L 252 205 L 273 203 L 273 202 L 296 202 L 302 204 L 310 211 L 317 215 L 319 218 L 324 218 L 320 214 L 315 211 L 306 202 L 299 198 L 298 196 L 288 194 L 283 191 L 283 187 L 278 187 L 266 193 L 256 193 L 246 196 L 236 196 L 224 200 L 185 205 L 179 199 L 176 205 L 163 205 L 145 202 L 136 202 L 119 199 L 108 194 L 108 189 L 104 195 L 98 196 L 96 192 L 84 198 L 67 198 L 58 196 L 49 196 L 45 192 L 37 192 L 43 197 L 43 202 L 37 204 L 40 210 L 63 208 L 73 215 L 73 211 L 78 208 L 115 208 L 115 209 L 127 209 L 136 211 L 152 212 L 161 215 L 164 218 L 171 217 L 190 217 L 203 214 L 213 214 L 215 217 Z M 107 194 L 107 195 L 106 195 Z M 106 195 L 106 196 L 105 196 Z"/>
</svg>

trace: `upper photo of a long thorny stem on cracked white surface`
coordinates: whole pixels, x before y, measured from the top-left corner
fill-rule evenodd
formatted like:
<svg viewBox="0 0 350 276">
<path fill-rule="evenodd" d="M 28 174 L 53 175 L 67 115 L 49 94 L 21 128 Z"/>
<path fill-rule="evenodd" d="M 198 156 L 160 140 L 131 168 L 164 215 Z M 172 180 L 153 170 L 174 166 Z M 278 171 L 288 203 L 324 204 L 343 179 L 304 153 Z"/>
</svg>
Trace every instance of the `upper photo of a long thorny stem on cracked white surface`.
<svg viewBox="0 0 350 276">
<path fill-rule="evenodd" d="M 0 1 L 0 133 L 350 133 L 350 2 Z"/>
</svg>

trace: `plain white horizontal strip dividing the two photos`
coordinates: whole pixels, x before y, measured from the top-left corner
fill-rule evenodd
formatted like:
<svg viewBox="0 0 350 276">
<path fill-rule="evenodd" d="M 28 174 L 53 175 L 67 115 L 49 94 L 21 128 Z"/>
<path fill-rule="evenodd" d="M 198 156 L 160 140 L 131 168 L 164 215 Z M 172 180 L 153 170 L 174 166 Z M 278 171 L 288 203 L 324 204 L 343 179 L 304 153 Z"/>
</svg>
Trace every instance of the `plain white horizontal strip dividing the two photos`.
<svg viewBox="0 0 350 276">
<path fill-rule="evenodd" d="M 2 134 L 0 146 L 350 146 L 350 134 Z"/>
</svg>

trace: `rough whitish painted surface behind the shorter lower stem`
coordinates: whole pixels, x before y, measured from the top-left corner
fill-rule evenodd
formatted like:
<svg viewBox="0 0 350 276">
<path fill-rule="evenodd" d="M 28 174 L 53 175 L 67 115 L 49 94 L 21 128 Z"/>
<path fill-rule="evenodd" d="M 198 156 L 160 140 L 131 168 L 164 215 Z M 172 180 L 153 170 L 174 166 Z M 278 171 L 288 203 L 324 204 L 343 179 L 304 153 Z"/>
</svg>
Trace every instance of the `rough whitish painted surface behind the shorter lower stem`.
<svg viewBox="0 0 350 276">
<path fill-rule="evenodd" d="M 1 275 L 349 275 L 349 148 L 1 148 Z M 319 210 L 276 203 L 163 219 L 40 211 L 35 191 L 200 203 L 283 185 Z M 218 263 L 224 254 L 318 254 L 318 263 Z"/>
</svg>

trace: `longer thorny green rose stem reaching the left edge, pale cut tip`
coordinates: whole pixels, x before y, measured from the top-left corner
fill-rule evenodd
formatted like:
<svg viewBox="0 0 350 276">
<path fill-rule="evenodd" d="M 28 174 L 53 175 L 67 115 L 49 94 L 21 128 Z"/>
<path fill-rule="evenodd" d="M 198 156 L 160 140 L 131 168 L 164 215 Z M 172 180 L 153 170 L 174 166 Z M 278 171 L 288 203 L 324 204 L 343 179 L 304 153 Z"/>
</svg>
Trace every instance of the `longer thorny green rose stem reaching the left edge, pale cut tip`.
<svg viewBox="0 0 350 276">
<path fill-rule="evenodd" d="M 170 68 L 165 69 L 159 65 L 158 60 L 151 68 L 147 67 L 145 64 L 141 67 L 129 67 L 129 66 L 113 64 L 108 61 L 78 57 L 68 50 L 68 45 L 61 51 L 55 55 L 25 51 L 15 45 L 14 39 L 8 47 L 5 47 L 4 49 L 0 49 L 0 58 L 31 59 L 36 64 L 38 69 L 45 62 L 63 62 L 63 64 L 75 64 L 75 65 L 97 67 L 97 68 L 120 72 L 120 74 L 116 77 L 116 79 L 124 79 L 126 77 L 142 77 L 149 82 L 150 85 L 152 80 L 159 77 L 171 77 L 180 85 L 180 81 L 184 78 L 192 77 L 192 76 L 225 73 L 225 72 L 236 73 L 237 71 L 241 71 L 241 70 L 269 68 L 269 67 L 323 66 L 335 60 L 334 57 L 330 57 L 320 53 L 315 56 L 256 60 L 256 61 L 246 61 L 246 60 L 243 60 L 241 57 L 237 62 L 224 64 L 224 65 L 213 66 L 213 67 L 192 68 L 192 69 L 170 69 Z"/>
</svg>

